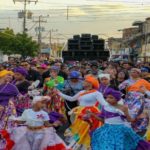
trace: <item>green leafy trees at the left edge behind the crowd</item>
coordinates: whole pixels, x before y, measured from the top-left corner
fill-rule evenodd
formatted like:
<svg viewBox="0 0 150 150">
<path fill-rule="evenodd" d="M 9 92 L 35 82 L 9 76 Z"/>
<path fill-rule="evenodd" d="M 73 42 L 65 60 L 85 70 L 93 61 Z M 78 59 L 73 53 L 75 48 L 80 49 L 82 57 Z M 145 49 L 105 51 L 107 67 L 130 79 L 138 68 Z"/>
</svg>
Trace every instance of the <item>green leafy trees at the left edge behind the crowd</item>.
<svg viewBox="0 0 150 150">
<path fill-rule="evenodd" d="M 35 56 L 39 51 L 39 45 L 28 34 L 14 34 L 13 30 L 7 28 L 0 32 L 0 50 L 8 55 Z"/>
</svg>

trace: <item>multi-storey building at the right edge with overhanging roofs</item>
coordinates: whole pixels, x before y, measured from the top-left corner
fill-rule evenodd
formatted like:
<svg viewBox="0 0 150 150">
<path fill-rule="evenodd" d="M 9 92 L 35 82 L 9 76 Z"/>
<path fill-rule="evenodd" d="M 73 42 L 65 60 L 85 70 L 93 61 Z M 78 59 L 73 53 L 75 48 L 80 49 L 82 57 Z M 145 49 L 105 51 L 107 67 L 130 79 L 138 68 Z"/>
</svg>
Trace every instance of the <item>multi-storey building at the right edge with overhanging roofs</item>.
<svg viewBox="0 0 150 150">
<path fill-rule="evenodd" d="M 125 48 L 131 49 L 130 53 L 138 54 L 141 60 L 150 59 L 150 18 L 145 21 L 135 21 L 134 27 L 123 29 L 123 43 Z"/>
</svg>

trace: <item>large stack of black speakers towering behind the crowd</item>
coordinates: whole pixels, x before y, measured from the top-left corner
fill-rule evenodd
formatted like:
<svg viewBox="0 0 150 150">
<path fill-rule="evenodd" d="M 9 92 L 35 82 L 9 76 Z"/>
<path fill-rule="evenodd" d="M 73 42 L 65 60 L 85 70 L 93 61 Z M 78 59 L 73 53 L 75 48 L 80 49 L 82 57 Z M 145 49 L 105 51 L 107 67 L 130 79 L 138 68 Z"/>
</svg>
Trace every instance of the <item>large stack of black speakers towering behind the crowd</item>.
<svg viewBox="0 0 150 150">
<path fill-rule="evenodd" d="M 109 51 L 105 51 L 105 40 L 98 35 L 74 35 L 68 39 L 68 51 L 63 51 L 62 57 L 68 60 L 107 60 Z"/>
</svg>

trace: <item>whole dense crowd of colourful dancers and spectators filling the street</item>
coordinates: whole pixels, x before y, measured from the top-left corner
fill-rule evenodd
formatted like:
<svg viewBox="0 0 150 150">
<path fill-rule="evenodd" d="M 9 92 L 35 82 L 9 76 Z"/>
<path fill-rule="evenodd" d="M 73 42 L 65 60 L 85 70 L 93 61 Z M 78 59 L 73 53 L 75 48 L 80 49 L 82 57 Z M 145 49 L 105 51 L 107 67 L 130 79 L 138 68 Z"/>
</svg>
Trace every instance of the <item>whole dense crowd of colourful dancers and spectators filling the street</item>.
<svg viewBox="0 0 150 150">
<path fill-rule="evenodd" d="M 150 63 L 0 64 L 0 150 L 150 150 L 149 116 Z"/>
</svg>

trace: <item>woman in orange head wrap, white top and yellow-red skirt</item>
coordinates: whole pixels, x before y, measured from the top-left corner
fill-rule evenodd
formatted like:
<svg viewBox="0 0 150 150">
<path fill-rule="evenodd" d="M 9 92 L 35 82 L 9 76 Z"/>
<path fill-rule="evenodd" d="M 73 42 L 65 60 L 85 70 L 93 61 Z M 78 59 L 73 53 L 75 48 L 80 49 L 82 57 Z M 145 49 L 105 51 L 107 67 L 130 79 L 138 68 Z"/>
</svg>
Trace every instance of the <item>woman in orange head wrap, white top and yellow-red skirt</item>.
<svg viewBox="0 0 150 150">
<path fill-rule="evenodd" d="M 78 92 L 74 96 L 68 96 L 58 91 L 58 94 L 68 101 L 78 101 L 79 107 L 75 107 L 70 114 L 74 114 L 75 117 L 72 120 L 72 125 L 66 130 L 65 136 L 68 138 L 69 147 L 74 148 L 85 148 L 90 147 L 90 134 L 89 132 L 102 125 L 101 122 L 97 122 L 95 119 L 90 118 L 89 123 L 93 124 L 90 128 L 89 124 L 84 121 L 84 115 L 87 110 L 92 112 L 100 112 L 98 105 L 107 105 L 103 95 L 97 91 L 99 88 L 98 80 L 91 75 L 87 75 L 83 82 L 84 90 Z"/>
</svg>

